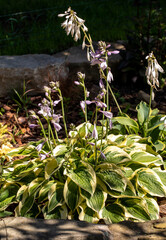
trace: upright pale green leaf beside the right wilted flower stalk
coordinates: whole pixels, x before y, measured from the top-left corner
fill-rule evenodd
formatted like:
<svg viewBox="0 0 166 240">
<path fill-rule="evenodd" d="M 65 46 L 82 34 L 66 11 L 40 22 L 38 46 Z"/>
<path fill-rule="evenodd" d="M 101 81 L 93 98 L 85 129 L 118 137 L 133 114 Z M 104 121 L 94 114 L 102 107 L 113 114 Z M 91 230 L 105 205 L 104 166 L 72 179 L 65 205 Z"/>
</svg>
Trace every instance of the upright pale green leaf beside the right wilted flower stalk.
<svg viewBox="0 0 166 240">
<path fill-rule="evenodd" d="M 147 103 L 141 101 L 137 105 L 136 110 L 137 110 L 138 122 L 139 122 L 140 125 L 142 125 L 148 119 L 148 116 L 149 116 L 149 106 L 147 105 Z"/>
</svg>

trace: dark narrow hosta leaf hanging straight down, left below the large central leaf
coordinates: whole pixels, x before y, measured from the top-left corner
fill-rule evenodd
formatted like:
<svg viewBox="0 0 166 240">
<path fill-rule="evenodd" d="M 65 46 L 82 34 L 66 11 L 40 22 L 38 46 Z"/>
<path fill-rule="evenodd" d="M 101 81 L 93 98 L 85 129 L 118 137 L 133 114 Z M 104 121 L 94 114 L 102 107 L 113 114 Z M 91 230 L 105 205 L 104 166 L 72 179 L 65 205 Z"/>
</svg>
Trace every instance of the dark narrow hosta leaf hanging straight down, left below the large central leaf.
<svg viewBox="0 0 166 240">
<path fill-rule="evenodd" d="M 74 211 L 78 206 L 80 193 L 78 185 L 69 177 L 65 182 L 63 194 L 66 204 L 72 211 Z"/>
</svg>

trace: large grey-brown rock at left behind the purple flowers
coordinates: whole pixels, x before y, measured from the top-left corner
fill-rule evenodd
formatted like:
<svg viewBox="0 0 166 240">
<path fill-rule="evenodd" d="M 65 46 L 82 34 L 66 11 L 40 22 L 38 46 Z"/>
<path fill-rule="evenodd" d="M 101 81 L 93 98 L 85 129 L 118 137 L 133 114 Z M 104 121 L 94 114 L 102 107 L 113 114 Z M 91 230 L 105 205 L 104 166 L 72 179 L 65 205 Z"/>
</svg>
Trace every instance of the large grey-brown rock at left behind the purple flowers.
<svg viewBox="0 0 166 240">
<path fill-rule="evenodd" d="M 68 67 L 63 58 L 47 54 L 0 56 L 0 97 L 10 96 L 13 89 L 21 90 L 25 80 L 31 94 L 43 92 L 49 81 L 65 82 Z"/>
</svg>

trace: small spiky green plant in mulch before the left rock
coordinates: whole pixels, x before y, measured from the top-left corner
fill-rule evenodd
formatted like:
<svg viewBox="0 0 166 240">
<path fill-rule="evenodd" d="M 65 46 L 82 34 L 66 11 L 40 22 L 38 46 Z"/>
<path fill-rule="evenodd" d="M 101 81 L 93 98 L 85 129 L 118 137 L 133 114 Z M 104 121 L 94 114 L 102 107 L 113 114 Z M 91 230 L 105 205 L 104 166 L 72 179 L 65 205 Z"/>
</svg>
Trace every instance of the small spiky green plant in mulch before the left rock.
<svg viewBox="0 0 166 240">
<path fill-rule="evenodd" d="M 23 81 L 23 88 L 22 93 L 19 93 L 16 89 L 14 89 L 15 97 L 13 97 L 13 101 L 17 104 L 17 113 L 22 109 L 25 110 L 26 116 L 28 117 L 28 107 L 32 104 L 31 98 L 28 97 L 28 93 L 33 91 L 33 89 L 26 90 L 29 81 L 26 83 L 25 80 Z"/>
</svg>

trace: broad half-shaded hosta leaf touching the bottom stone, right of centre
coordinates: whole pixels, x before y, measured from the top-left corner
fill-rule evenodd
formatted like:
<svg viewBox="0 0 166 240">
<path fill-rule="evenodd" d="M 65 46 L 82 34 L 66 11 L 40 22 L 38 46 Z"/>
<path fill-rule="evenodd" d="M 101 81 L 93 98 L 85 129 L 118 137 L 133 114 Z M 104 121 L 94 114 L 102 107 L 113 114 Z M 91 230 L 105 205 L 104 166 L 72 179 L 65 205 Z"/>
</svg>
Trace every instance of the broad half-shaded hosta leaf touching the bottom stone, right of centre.
<svg viewBox="0 0 166 240">
<path fill-rule="evenodd" d="M 121 222 L 125 220 L 125 210 L 118 203 L 110 203 L 101 209 L 99 217 L 106 224 Z"/>
</svg>

